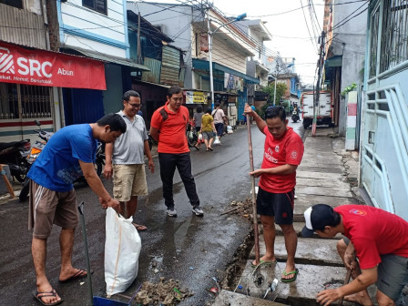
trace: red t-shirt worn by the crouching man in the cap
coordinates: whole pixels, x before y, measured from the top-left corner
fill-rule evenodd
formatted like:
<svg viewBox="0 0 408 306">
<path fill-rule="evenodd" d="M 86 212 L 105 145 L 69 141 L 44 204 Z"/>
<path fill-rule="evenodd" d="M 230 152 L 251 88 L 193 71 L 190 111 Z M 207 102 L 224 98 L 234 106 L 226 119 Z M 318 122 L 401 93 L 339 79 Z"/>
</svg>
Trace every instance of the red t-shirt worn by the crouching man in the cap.
<svg viewBox="0 0 408 306">
<path fill-rule="evenodd" d="M 380 255 L 408 257 L 408 222 L 382 209 L 362 205 L 342 205 L 334 209 L 342 215 L 344 236 L 352 241 L 362 269 L 376 267 Z"/>
</svg>

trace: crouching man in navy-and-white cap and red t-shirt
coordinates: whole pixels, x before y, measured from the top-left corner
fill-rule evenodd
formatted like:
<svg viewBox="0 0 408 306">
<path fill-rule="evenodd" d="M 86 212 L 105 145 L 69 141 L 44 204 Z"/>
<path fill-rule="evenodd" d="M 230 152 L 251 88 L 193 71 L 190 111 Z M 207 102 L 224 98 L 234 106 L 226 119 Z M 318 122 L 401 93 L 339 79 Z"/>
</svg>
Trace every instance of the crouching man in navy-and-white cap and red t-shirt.
<svg viewBox="0 0 408 306">
<path fill-rule="evenodd" d="M 321 238 L 342 233 L 346 238 L 337 250 L 352 282 L 337 289 L 321 291 L 321 305 L 344 297 L 362 305 L 372 305 L 367 287 L 376 284 L 378 305 L 395 305 L 408 283 L 408 222 L 390 212 L 362 205 L 342 205 L 332 209 L 317 204 L 304 212 L 303 237 L 316 232 Z M 358 258 L 359 263 L 355 260 Z"/>
</svg>

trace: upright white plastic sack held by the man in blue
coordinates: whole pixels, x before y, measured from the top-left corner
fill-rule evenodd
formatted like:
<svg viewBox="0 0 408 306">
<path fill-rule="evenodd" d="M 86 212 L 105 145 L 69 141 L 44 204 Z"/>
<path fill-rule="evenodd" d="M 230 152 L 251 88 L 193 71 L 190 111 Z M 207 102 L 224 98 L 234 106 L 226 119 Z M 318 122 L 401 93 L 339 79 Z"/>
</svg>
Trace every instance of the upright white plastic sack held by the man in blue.
<svg viewBox="0 0 408 306">
<path fill-rule="evenodd" d="M 138 276 L 141 241 L 133 218 L 125 219 L 107 209 L 105 241 L 105 281 L 107 296 L 126 291 Z"/>
</svg>

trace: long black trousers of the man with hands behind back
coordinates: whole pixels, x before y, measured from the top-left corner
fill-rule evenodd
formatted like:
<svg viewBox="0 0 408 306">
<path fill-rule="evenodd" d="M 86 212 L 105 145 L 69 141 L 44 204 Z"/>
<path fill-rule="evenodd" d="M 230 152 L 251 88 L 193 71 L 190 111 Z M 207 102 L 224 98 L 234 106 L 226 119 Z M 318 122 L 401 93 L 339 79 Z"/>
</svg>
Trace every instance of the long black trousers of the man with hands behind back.
<svg viewBox="0 0 408 306">
<path fill-rule="evenodd" d="M 173 177 L 176 168 L 183 181 L 190 204 L 194 207 L 199 205 L 199 196 L 197 195 L 196 183 L 191 174 L 191 159 L 189 152 L 181 154 L 158 153 L 158 162 L 160 164 L 160 178 L 163 183 L 164 203 L 168 208 L 174 208 L 173 199 Z"/>
</svg>

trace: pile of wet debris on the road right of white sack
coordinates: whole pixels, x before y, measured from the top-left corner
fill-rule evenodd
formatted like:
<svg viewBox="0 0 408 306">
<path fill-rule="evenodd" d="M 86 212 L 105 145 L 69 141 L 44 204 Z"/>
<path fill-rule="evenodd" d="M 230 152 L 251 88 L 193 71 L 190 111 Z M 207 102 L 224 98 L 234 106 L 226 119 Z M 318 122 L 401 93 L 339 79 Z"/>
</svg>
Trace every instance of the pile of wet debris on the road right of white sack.
<svg viewBox="0 0 408 306">
<path fill-rule="evenodd" d="M 179 280 L 165 281 L 165 278 L 161 277 L 156 284 L 145 281 L 135 301 L 142 305 L 176 305 L 192 295 L 193 293 L 180 288 Z"/>
</svg>

